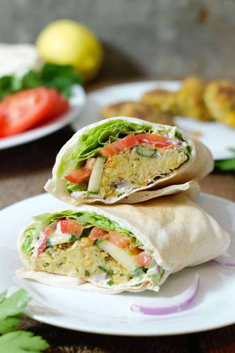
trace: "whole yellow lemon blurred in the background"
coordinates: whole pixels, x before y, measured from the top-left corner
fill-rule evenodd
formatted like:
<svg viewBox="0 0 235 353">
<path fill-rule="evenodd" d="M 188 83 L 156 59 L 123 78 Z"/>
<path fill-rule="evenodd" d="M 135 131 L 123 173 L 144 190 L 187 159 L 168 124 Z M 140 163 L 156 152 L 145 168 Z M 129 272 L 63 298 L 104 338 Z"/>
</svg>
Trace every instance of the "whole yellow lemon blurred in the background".
<svg viewBox="0 0 235 353">
<path fill-rule="evenodd" d="M 94 34 L 84 25 L 61 19 L 50 23 L 39 34 L 36 46 L 41 57 L 58 65 L 73 65 L 85 80 L 100 69 L 104 50 Z"/>
</svg>

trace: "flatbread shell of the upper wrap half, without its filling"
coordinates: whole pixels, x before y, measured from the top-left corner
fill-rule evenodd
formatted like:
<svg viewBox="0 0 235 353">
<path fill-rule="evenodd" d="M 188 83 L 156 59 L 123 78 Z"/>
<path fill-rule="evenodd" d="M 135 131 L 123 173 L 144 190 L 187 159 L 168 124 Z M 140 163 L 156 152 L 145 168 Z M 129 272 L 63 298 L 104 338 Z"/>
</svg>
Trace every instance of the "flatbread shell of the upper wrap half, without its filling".
<svg viewBox="0 0 235 353">
<path fill-rule="evenodd" d="M 52 196 L 57 199 L 72 205 L 79 205 L 81 203 L 95 203 L 101 202 L 105 204 L 112 204 L 116 202 L 140 202 L 146 201 L 151 198 L 159 197 L 165 195 L 164 188 L 167 186 L 172 186 L 171 193 L 179 192 L 177 185 L 185 184 L 190 180 L 200 180 L 209 174 L 214 168 L 214 161 L 209 149 L 199 140 L 193 139 L 185 132 L 179 130 L 182 133 L 182 137 L 190 144 L 191 146 L 191 159 L 186 163 L 181 164 L 177 169 L 172 170 L 170 173 L 166 174 L 163 177 L 155 179 L 152 183 L 147 186 L 138 187 L 130 190 L 129 192 L 123 192 L 119 197 L 113 196 L 106 199 L 98 197 L 87 197 L 84 196 L 73 198 L 71 197 L 70 192 L 67 190 L 67 180 L 64 178 L 57 178 L 58 167 L 63 157 L 68 156 L 74 149 L 78 146 L 80 137 L 87 133 L 95 126 L 99 126 L 108 121 L 123 119 L 128 122 L 135 122 L 137 124 L 150 125 L 153 128 L 165 128 L 167 131 L 172 129 L 172 126 L 153 124 L 140 119 L 127 118 L 119 116 L 116 118 L 105 119 L 94 124 L 88 125 L 74 134 L 74 136 L 61 148 L 60 152 L 56 157 L 55 165 L 52 169 L 52 178 L 49 179 L 44 187 L 44 189 L 49 192 Z M 145 193 L 139 192 L 147 190 Z M 156 193 L 155 190 L 158 190 Z M 131 195 L 131 197 L 129 197 Z"/>
</svg>

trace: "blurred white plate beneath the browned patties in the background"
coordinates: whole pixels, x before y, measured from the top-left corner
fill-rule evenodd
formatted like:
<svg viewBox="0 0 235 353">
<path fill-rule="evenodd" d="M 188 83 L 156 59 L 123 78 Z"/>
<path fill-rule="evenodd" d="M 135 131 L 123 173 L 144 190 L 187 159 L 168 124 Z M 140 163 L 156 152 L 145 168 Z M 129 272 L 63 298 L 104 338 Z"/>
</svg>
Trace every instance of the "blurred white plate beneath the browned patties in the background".
<svg viewBox="0 0 235 353">
<path fill-rule="evenodd" d="M 87 95 L 84 112 L 80 119 L 74 121 L 72 126 L 77 131 L 84 125 L 100 120 L 100 110 L 107 104 L 129 100 L 137 101 L 145 92 L 156 88 L 176 91 L 180 88 L 180 84 L 180 81 L 133 82 L 92 91 Z M 84 124 L 84 122 L 86 123 Z M 188 133 L 199 131 L 201 133 L 199 139 L 208 146 L 215 160 L 234 157 L 229 148 L 235 148 L 235 129 L 214 121 L 204 122 L 179 116 L 174 118 L 174 122 Z"/>
</svg>

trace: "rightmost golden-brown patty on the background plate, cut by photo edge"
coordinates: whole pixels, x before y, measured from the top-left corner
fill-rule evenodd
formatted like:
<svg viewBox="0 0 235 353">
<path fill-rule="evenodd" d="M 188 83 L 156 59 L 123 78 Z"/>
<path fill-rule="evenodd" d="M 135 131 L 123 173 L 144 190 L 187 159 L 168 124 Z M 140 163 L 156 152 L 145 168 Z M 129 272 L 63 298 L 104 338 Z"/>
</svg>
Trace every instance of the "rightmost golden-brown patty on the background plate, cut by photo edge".
<svg viewBox="0 0 235 353">
<path fill-rule="evenodd" d="M 210 82 L 206 86 L 204 100 L 216 120 L 235 127 L 235 83 L 233 81 Z"/>
</svg>

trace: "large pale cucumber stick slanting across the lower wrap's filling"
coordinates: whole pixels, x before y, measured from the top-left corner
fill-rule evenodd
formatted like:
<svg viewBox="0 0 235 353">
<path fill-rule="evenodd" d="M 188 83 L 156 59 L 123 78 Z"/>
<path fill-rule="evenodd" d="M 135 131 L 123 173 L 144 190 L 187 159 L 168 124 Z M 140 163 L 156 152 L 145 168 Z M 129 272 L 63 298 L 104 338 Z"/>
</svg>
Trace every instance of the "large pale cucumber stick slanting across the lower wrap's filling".
<svg viewBox="0 0 235 353">
<path fill-rule="evenodd" d="M 103 240 L 100 244 L 97 244 L 102 250 L 106 251 L 111 255 L 117 262 L 119 262 L 123 267 L 131 270 L 138 266 L 135 261 L 135 257 L 129 255 L 124 249 L 111 243 L 109 240 Z"/>
</svg>

